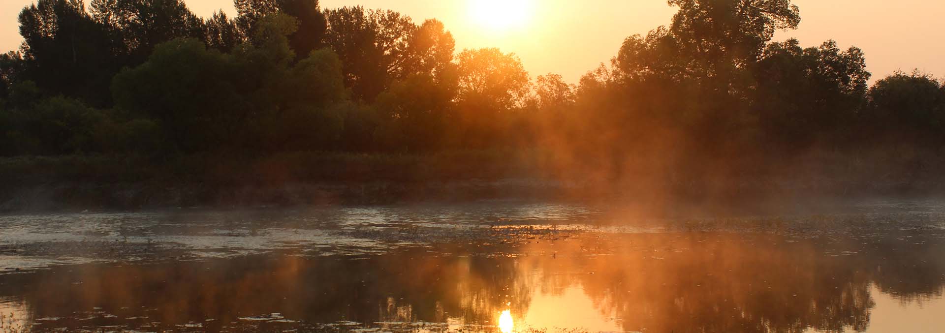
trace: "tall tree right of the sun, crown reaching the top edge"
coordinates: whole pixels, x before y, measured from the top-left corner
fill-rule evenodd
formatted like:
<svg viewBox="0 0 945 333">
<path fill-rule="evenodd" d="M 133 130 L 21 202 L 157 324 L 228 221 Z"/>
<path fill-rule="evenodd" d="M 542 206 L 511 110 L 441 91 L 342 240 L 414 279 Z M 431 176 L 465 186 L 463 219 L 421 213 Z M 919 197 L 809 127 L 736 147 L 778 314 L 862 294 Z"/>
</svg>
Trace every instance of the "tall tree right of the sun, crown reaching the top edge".
<svg viewBox="0 0 945 333">
<path fill-rule="evenodd" d="M 605 87 L 589 92 L 617 99 L 599 106 L 608 110 L 603 118 L 623 120 L 613 124 L 647 124 L 666 133 L 683 133 L 673 134 L 674 140 L 686 142 L 687 149 L 706 158 L 753 149 L 762 135 L 759 107 L 753 104 L 765 101 L 753 100 L 759 83 L 752 71 L 775 31 L 799 25 L 799 8 L 789 0 L 668 3 L 679 8 L 672 24 L 645 37 L 627 38 L 611 61 L 609 84 L 589 82 Z M 621 109 L 629 114 L 619 115 Z"/>
</svg>

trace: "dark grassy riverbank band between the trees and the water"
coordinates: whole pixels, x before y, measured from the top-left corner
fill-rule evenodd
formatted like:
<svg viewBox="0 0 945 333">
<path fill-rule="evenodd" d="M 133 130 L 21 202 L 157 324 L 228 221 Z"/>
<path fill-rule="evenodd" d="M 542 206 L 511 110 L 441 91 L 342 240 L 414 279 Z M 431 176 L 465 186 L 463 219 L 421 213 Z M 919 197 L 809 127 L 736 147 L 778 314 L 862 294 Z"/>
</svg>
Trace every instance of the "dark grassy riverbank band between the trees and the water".
<svg viewBox="0 0 945 333">
<path fill-rule="evenodd" d="M 0 211 L 376 205 L 484 199 L 687 203 L 945 193 L 945 176 L 855 158 L 790 167 L 690 172 L 611 161 L 563 165 L 541 152 L 435 155 L 296 153 L 269 158 L 140 156 L 0 158 Z M 626 163 L 625 163 L 626 164 Z M 730 165 L 738 165 L 730 162 Z M 747 165 L 747 162 L 742 162 Z M 752 170 L 750 173 L 733 170 Z M 724 170 L 718 172 L 713 170 Z M 916 171 L 919 170 L 919 171 Z"/>
</svg>

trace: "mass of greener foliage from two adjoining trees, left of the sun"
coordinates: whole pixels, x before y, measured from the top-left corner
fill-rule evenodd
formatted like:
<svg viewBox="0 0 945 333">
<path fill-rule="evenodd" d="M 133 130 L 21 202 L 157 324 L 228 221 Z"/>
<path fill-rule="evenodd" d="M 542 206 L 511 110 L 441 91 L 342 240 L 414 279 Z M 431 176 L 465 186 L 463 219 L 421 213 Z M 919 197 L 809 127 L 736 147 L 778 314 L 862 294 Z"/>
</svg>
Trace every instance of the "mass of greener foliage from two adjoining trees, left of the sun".
<svg viewBox="0 0 945 333">
<path fill-rule="evenodd" d="M 293 63 L 287 36 L 296 20 L 260 20 L 250 43 L 232 54 L 194 39 L 165 42 L 148 60 L 116 75 L 117 108 L 154 119 L 185 153 L 333 147 L 344 114 L 340 61 L 329 50 Z"/>
</svg>

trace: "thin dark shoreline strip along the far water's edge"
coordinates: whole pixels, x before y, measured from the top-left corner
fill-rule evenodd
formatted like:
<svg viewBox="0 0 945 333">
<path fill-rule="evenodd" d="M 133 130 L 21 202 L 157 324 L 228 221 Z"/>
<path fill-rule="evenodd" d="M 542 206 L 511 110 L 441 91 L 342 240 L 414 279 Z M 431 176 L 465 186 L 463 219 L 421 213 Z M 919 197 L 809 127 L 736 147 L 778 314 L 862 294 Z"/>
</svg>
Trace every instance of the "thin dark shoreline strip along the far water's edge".
<svg viewBox="0 0 945 333">
<path fill-rule="evenodd" d="M 602 189 L 538 178 L 466 179 L 437 182 L 300 182 L 278 186 L 206 184 L 62 182 L 5 188 L 0 213 L 68 212 L 82 210 L 136 211 L 163 208 L 296 208 L 455 204 L 490 200 L 633 205 L 647 209 L 671 206 L 703 208 L 763 208 L 819 206 L 823 202 L 855 201 L 876 197 L 923 198 L 945 194 L 937 184 L 885 183 L 851 185 L 844 182 L 794 184 L 741 184 L 726 191 L 702 193 L 648 193 Z"/>
</svg>

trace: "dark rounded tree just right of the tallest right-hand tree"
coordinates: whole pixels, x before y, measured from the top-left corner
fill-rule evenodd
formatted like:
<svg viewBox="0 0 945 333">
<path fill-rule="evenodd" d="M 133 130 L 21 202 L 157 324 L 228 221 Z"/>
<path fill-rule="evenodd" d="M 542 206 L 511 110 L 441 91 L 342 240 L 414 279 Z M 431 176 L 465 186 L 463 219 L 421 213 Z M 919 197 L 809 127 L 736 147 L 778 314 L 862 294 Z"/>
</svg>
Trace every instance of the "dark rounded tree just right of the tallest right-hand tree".
<svg viewBox="0 0 945 333">
<path fill-rule="evenodd" d="M 772 42 L 751 70 L 763 130 L 787 149 L 840 139 L 831 137 L 854 122 L 870 76 L 863 51 L 841 51 L 833 41 L 805 49 L 797 40 Z"/>
</svg>

